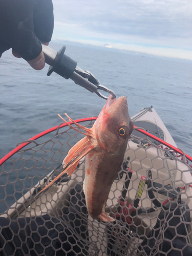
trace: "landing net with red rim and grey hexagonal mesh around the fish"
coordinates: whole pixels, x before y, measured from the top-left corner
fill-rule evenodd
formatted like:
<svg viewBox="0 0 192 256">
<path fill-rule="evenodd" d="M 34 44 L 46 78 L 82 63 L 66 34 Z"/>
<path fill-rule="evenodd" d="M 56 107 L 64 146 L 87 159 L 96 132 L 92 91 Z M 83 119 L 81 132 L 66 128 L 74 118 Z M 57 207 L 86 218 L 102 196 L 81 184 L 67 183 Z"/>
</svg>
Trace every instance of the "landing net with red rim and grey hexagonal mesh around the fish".
<svg viewBox="0 0 192 256">
<path fill-rule="evenodd" d="M 78 122 L 90 128 L 95 119 Z M 41 133 L 0 160 L 0 254 L 192 255 L 192 168 L 182 151 L 138 131 L 107 201 L 112 223 L 88 214 L 84 159 L 70 178 L 63 175 L 34 199 L 83 137 L 69 126 Z"/>
</svg>

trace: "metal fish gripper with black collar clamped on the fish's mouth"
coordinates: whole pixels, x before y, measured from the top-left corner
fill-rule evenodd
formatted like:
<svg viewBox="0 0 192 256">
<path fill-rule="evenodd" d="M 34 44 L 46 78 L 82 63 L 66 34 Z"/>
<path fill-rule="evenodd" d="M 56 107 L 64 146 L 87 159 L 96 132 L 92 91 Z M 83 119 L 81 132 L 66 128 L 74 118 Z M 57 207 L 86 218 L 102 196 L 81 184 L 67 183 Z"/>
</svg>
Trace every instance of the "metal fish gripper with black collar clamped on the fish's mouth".
<svg viewBox="0 0 192 256">
<path fill-rule="evenodd" d="M 63 46 L 58 52 L 51 49 L 49 46 L 42 44 L 42 52 L 45 56 L 45 62 L 50 65 L 47 75 L 50 76 L 53 72 L 66 79 L 72 79 L 79 86 L 86 88 L 92 93 L 96 93 L 103 99 L 108 99 L 99 92 L 99 90 L 108 92 L 116 98 L 115 93 L 101 86 L 99 80 L 90 72 L 84 71 L 77 66 L 77 62 L 65 54 L 66 46 Z"/>
</svg>

